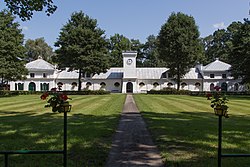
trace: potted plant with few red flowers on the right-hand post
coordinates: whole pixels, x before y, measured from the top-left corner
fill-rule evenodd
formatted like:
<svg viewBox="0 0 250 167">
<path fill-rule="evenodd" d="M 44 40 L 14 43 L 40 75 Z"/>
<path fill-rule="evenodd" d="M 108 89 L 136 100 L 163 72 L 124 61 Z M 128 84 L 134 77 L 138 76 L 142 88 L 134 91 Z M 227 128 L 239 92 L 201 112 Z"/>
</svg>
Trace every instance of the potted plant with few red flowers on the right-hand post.
<svg viewBox="0 0 250 167">
<path fill-rule="evenodd" d="M 207 99 L 211 100 L 210 106 L 214 109 L 215 115 L 229 118 L 227 105 L 228 98 L 220 91 L 221 87 L 216 86 L 214 89 L 215 92 L 207 94 Z"/>
</svg>

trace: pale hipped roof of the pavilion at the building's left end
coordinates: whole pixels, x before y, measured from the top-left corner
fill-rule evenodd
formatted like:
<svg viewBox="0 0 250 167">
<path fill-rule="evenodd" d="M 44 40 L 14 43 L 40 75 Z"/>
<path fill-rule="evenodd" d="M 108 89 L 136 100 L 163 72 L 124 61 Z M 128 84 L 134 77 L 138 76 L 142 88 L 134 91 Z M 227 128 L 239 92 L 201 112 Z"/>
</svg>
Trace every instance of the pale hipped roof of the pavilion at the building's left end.
<svg viewBox="0 0 250 167">
<path fill-rule="evenodd" d="M 28 70 L 44 71 L 44 70 L 55 70 L 55 66 L 48 63 L 43 59 L 37 59 L 29 62 L 25 65 Z"/>
</svg>

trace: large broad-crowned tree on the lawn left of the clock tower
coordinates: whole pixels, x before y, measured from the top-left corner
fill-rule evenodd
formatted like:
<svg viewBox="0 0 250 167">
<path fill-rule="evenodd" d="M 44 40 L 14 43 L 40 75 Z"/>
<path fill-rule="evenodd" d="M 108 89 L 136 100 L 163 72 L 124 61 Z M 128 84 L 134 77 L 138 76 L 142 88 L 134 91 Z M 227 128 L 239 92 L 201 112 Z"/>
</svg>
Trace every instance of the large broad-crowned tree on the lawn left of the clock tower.
<svg viewBox="0 0 250 167">
<path fill-rule="evenodd" d="M 79 71 L 79 91 L 82 74 L 99 74 L 109 68 L 104 31 L 97 27 L 97 20 L 82 11 L 71 15 L 61 29 L 55 46 L 59 47 L 55 56 L 59 68 L 69 67 L 71 71 Z"/>
</svg>

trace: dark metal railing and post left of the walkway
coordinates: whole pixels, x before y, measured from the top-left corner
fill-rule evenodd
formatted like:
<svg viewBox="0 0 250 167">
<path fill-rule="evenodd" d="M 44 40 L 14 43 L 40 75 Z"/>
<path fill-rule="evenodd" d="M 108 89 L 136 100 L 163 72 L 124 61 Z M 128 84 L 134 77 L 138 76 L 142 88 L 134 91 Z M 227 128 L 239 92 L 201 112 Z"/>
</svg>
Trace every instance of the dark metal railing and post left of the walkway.
<svg viewBox="0 0 250 167">
<path fill-rule="evenodd" d="M 71 106 L 70 106 L 71 109 Z M 63 154 L 63 166 L 67 167 L 67 112 L 64 112 L 64 130 L 63 130 L 63 150 L 15 150 L 0 151 L 4 155 L 4 166 L 9 166 L 9 155 L 12 154 Z"/>
</svg>

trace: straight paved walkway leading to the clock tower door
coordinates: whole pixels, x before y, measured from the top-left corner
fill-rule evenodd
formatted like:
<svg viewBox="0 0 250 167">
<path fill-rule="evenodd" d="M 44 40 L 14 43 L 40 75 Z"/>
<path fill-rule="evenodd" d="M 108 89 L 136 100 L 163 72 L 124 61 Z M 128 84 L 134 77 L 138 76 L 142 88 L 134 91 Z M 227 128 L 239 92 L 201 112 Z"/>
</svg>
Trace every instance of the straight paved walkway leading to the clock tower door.
<svg viewBox="0 0 250 167">
<path fill-rule="evenodd" d="M 127 95 L 106 167 L 163 167 L 133 96 Z"/>
</svg>

